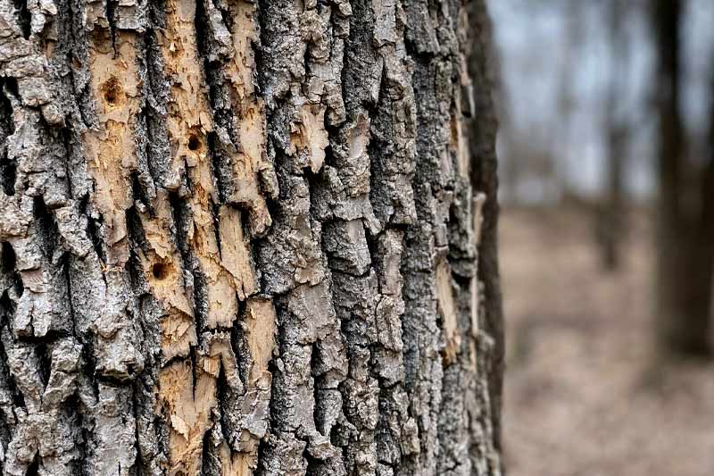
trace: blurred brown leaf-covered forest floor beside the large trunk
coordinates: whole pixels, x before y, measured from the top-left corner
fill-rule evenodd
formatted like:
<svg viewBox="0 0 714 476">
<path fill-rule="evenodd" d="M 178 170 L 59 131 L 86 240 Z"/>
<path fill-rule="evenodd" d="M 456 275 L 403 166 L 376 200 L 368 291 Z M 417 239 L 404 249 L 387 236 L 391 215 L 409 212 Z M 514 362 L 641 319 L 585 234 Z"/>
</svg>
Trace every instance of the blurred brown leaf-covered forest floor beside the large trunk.
<svg viewBox="0 0 714 476">
<path fill-rule="evenodd" d="M 590 215 L 505 209 L 503 440 L 509 476 L 711 476 L 714 363 L 652 351 L 652 228 L 602 270 Z"/>
</svg>

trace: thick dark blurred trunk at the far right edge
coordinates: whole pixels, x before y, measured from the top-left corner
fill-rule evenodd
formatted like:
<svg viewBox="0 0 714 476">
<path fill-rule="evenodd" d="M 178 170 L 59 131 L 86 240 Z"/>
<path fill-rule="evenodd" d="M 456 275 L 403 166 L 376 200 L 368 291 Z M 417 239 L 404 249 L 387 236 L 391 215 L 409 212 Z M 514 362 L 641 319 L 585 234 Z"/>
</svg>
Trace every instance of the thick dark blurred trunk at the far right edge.
<svg viewBox="0 0 714 476">
<path fill-rule="evenodd" d="M 652 4 L 659 116 L 657 338 L 665 353 L 710 354 L 711 173 L 687 156 L 679 90 L 682 9 L 679 0 Z"/>
</svg>

